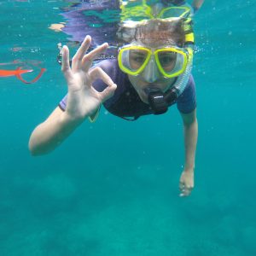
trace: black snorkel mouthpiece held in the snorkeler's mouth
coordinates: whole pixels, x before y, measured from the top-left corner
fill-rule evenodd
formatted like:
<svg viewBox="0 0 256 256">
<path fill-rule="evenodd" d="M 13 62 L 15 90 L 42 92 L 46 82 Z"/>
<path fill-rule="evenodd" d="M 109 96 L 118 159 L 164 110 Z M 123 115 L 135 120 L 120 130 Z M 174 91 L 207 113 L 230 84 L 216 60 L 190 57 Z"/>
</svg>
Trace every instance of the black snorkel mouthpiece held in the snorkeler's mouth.
<svg viewBox="0 0 256 256">
<path fill-rule="evenodd" d="M 154 114 L 166 113 L 168 107 L 176 101 L 178 96 L 175 87 L 167 90 L 166 93 L 157 88 L 147 88 L 145 91 L 148 93 L 148 103 Z"/>
</svg>

